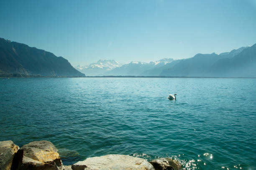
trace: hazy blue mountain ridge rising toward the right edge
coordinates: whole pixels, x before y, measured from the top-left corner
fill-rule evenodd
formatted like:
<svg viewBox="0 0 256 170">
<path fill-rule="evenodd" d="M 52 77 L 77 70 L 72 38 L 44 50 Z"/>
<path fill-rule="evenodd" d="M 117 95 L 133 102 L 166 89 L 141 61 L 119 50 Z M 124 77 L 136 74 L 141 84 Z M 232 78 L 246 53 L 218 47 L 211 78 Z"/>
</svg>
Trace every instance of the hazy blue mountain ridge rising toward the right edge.
<svg viewBox="0 0 256 170">
<path fill-rule="evenodd" d="M 256 44 L 238 50 L 197 54 L 164 69 L 160 76 L 256 77 Z"/>
</svg>

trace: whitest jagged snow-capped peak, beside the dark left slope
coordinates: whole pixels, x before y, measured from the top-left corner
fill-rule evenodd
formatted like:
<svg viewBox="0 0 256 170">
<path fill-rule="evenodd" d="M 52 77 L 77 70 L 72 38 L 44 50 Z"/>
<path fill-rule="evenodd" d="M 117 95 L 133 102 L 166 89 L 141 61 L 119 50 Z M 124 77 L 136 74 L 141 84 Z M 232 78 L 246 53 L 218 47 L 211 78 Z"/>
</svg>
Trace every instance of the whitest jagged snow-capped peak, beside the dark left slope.
<svg viewBox="0 0 256 170">
<path fill-rule="evenodd" d="M 120 67 L 122 65 L 122 63 L 115 60 L 99 60 L 87 66 L 77 65 L 75 68 L 84 73 L 86 76 L 98 76 L 102 75 L 106 71 L 112 70 L 115 67 Z"/>
</svg>

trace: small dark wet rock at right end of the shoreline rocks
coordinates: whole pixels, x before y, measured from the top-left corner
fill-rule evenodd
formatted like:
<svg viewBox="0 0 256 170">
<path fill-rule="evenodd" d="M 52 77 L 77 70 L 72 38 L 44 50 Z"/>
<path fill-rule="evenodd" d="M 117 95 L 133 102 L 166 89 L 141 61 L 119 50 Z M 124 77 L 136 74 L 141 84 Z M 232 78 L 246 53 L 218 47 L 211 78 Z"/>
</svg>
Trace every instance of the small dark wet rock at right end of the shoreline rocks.
<svg viewBox="0 0 256 170">
<path fill-rule="evenodd" d="M 180 170 L 182 168 L 177 160 L 171 158 L 159 158 L 149 163 L 154 166 L 155 170 Z"/>
</svg>

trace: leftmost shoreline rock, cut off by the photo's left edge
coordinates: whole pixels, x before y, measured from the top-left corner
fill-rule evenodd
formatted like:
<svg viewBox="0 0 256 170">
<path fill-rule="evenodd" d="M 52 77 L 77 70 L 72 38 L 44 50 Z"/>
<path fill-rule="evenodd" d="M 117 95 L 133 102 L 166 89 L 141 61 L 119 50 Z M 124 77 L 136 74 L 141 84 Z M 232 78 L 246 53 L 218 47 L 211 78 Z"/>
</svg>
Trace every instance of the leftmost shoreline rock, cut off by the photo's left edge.
<svg viewBox="0 0 256 170">
<path fill-rule="evenodd" d="M 19 147 L 11 140 L 0 141 L 0 170 L 10 170 Z"/>
</svg>

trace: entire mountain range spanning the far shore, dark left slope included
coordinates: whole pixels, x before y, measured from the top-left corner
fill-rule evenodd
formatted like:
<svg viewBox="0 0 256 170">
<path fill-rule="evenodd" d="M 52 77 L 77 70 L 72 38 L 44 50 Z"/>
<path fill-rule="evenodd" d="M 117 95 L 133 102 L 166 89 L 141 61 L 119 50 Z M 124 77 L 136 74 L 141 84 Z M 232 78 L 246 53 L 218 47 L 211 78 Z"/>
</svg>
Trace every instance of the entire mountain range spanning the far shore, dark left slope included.
<svg viewBox="0 0 256 170">
<path fill-rule="evenodd" d="M 128 64 L 99 60 L 75 68 L 68 60 L 51 52 L 0 38 L 0 76 L 256 77 L 256 44 L 219 55 L 197 54 L 182 60 L 164 58 L 155 62 L 132 61 Z"/>
</svg>

